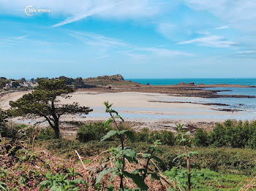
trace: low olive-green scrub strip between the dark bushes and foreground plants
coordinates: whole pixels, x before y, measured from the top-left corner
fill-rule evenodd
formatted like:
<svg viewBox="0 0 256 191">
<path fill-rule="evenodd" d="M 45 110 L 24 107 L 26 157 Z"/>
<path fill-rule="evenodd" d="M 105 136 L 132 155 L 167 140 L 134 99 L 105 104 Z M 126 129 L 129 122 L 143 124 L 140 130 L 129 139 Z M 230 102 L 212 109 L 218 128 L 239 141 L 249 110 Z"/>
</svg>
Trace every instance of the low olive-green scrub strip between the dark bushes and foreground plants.
<svg viewBox="0 0 256 191">
<path fill-rule="evenodd" d="M 69 158 L 74 155 L 75 150 L 86 159 L 91 159 L 99 153 L 118 146 L 117 141 L 89 141 L 86 143 L 78 140 L 52 139 L 48 141 L 38 140 L 37 147 L 48 149 L 55 155 L 61 155 Z M 148 145 L 145 142 L 135 142 L 128 144 L 135 149 L 136 152 L 146 150 Z M 173 159 L 182 152 L 182 147 L 178 146 L 159 146 L 163 154 L 163 163 L 159 164 L 162 171 L 166 171 L 173 166 L 185 166 L 185 161 L 173 162 Z M 256 175 L 256 150 L 255 149 L 233 149 L 233 148 L 206 148 L 192 147 L 191 151 L 199 152 L 199 155 L 192 157 L 192 163 L 200 165 L 200 168 L 209 168 L 211 171 L 218 171 L 226 174 L 244 174 L 248 176 Z"/>
</svg>

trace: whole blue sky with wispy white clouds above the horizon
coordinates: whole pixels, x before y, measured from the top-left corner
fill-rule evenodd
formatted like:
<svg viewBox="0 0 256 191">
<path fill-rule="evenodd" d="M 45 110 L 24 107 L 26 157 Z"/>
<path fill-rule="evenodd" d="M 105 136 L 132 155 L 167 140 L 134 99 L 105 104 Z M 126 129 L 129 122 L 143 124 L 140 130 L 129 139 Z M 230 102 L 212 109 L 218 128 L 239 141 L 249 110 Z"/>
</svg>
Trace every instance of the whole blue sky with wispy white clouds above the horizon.
<svg viewBox="0 0 256 191">
<path fill-rule="evenodd" d="M 256 77 L 255 9 L 255 0 L 0 0 L 0 76 Z"/>
</svg>

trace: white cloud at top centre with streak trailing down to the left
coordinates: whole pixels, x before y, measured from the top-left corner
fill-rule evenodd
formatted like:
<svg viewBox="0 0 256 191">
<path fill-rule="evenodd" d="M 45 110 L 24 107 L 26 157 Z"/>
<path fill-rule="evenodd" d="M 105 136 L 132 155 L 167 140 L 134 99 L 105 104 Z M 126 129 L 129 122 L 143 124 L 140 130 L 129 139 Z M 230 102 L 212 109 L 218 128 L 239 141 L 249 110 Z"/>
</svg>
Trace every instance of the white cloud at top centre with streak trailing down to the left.
<svg viewBox="0 0 256 191">
<path fill-rule="evenodd" d="M 154 2 L 157 2 L 157 0 L 113 0 L 111 1 L 112 4 L 110 4 L 110 1 L 107 0 L 80 1 L 80 3 L 77 3 L 77 8 L 79 10 L 78 12 L 72 12 L 71 16 L 67 17 L 67 19 L 61 21 L 60 23 L 56 23 L 52 27 L 64 26 L 92 15 L 97 15 L 97 17 L 104 18 L 115 17 L 118 19 L 151 17 L 152 15 L 157 15 L 159 12 L 161 12 L 161 10 L 163 11 L 164 8 L 166 8 L 166 5 L 154 4 Z M 151 7 L 152 4 L 155 6 Z M 85 8 L 81 9 L 81 7 Z M 151 8 L 151 10 L 148 11 L 148 8 Z"/>
</svg>

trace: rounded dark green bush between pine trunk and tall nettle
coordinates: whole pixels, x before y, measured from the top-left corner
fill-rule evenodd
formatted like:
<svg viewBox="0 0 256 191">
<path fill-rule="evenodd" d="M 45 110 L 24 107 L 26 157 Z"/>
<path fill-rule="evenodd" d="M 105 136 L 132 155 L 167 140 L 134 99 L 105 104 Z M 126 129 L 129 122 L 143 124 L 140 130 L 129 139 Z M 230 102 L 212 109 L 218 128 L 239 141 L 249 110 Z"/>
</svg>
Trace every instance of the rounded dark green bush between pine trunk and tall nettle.
<svg viewBox="0 0 256 191">
<path fill-rule="evenodd" d="M 82 142 L 99 141 L 108 131 L 103 122 L 85 124 L 78 129 L 77 139 Z"/>
</svg>

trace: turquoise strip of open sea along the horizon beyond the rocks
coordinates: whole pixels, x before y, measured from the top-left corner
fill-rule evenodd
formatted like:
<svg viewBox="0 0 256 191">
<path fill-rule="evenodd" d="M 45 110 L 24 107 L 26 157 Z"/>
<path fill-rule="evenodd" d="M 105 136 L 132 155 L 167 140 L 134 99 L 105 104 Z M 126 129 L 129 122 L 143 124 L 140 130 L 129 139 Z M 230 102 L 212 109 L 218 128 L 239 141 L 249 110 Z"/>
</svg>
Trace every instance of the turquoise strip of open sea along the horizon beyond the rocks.
<svg viewBox="0 0 256 191">
<path fill-rule="evenodd" d="M 195 84 L 228 84 L 228 85 L 256 85 L 256 78 L 181 78 L 181 79 L 126 79 L 143 85 L 176 85 L 180 82 L 195 82 Z"/>
</svg>

